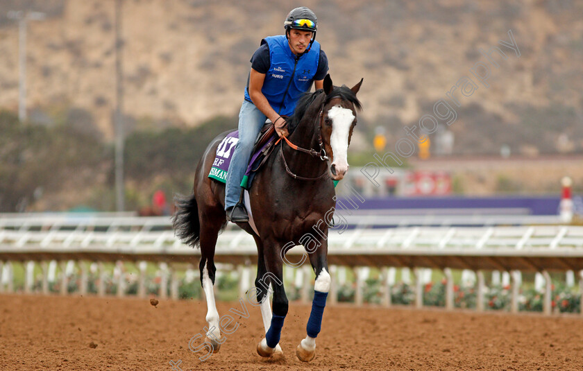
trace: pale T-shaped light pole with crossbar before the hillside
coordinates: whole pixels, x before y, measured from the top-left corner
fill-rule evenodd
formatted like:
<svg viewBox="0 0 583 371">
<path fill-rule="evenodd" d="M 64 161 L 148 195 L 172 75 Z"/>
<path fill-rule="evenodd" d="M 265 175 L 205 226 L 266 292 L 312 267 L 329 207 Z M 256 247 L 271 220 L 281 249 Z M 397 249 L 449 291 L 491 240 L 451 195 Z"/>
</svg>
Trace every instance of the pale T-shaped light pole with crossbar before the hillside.
<svg viewBox="0 0 583 371">
<path fill-rule="evenodd" d="M 8 18 L 18 21 L 18 119 L 26 120 L 26 21 L 41 21 L 44 13 L 10 10 Z"/>
</svg>

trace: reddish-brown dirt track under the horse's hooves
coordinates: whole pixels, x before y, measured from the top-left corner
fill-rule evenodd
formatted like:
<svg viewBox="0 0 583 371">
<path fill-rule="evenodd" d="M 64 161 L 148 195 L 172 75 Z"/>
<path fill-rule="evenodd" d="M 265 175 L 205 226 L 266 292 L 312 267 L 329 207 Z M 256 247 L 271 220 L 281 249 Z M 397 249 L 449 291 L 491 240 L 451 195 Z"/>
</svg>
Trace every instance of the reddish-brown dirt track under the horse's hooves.
<svg viewBox="0 0 583 371">
<path fill-rule="evenodd" d="M 278 360 L 255 353 L 263 326 L 247 307 L 201 362 L 188 341 L 206 325 L 204 302 L 0 295 L 0 370 L 583 370 L 583 318 L 328 306 L 316 359 L 301 363 L 310 307 L 290 305 Z"/>
</svg>

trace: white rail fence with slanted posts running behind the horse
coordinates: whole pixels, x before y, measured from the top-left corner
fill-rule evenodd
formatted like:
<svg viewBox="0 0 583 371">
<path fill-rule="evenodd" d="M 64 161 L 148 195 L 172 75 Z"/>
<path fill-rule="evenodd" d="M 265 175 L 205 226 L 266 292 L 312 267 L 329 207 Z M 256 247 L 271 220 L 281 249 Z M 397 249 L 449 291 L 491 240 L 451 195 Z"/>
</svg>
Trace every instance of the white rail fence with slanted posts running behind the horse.
<svg viewBox="0 0 583 371">
<path fill-rule="evenodd" d="M 583 291 L 583 227 L 567 225 L 476 226 L 476 227 L 426 227 L 436 225 L 434 219 L 416 227 L 386 227 L 389 218 L 374 219 L 359 216 L 351 221 L 348 230 L 330 230 L 328 236 L 328 262 L 330 273 L 345 275 L 353 269 L 356 288 L 355 302 L 363 302 L 363 286 L 369 268 L 382 272 L 382 304 L 391 305 L 391 285 L 394 268 L 409 268 L 415 274 L 415 305 L 423 305 L 423 284 L 427 282 L 427 268 L 439 269 L 446 277 L 446 308 L 453 309 L 452 269 L 462 269 L 465 274 L 475 273 L 478 292 L 476 307 L 484 310 L 485 271 L 508 272 L 511 278 L 511 311 L 518 311 L 518 288 L 521 272 L 536 272 L 539 285 L 546 286 L 544 312 L 551 312 L 552 288 L 549 272 L 574 272 L 580 279 Z M 496 216 L 490 225 L 497 225 Z M 524 217 L 524 216 L 522 216 Z M 461 216 L 450 216 L 450 220 Z M 468 219 L 468 216 L 466 216 Z M 471 219 L 471 218 L 470 218 Z M 461 221 L 461 219 L 460 219 Z M 475 219 L 477 221 L 477 219 Z M 484 219 L 482 218 L 482 222 Z M 499 217 L 500 224 L 508 221 Z M 464 223 L 451 223 L 464 224 Z M 469 223 L 472 225 L 472 223 Z M 488 223 L 484 223 L 488 224 Z M 520 224 L 520 223 L 516 223 Z M 398 225 L 398 224 L 397 224 Z M 437 224 L 439 225 L 439 224 Z M 466 220 L 465 225 L 468 225 Z M 289 252 L 289 261 L 299 261 L 300 247 Z M 219 270 L 237 270 L 239 293 L 249 286 L 251 262 L 256 261 L 257 250 L 251 236 L 235 226 L 219 236 L 215 261 Z M 96 266 L 99 277 L 97 292 L 105 294 L 103 285 L 105 262 L 115 262 L 116 269 L 124 272 L 125 264 L 136 264 L 139 270 L 137 294 L 146 294 L 146 264 L 156 262 L 162 272 L 160 296 L 166 297 L 170 284 L 171 297 L 178 297 L 178 272 L 198 265 L 199 250 L 187 248 L 174 237 L 169 218 L 138 218 L 133 216 L 87 217 L 69 214 L 52 216 L 0 216 L 0 292 L 13 291 L 12 262 L 23 262 L 26 267 L 24 292 L 32 291 L 35 264 L 42 270 L 42 293 L 49 292 L 49 261 L 58 261 L 62 272 L 71 271 L 76 264 L 81 271 L 81 295 L 87 293 L 90 266 Z M 54 267 L 54 263 L 52 267 Z M 54 272 L 54 268 L 52 270 Z M 287 272 L 291 270 L 287 269 Z M 192 270 L 190 270 L 192 275 Z M 300 284 L 301 298 L 307 301 L 312 270 L 306 265 L 286 273 Z M 198 275 L 198 269 L 196 269 Z M 117 295 L 125 295 L 126 277 L 117 275 Z M 340 281 L 342 277 L 337 277 Z M 67 293 L 67 274 L 60 277 L 62 294 Z M 337 279 L 332 281 L 335 283 Z M 332 284 L 330 300 L 337 300 L 336 284 Z M 583 306 L 582 306 L 583 307 Z M 583 314 L 583 310 L 582 310 Z"/>
</svg>

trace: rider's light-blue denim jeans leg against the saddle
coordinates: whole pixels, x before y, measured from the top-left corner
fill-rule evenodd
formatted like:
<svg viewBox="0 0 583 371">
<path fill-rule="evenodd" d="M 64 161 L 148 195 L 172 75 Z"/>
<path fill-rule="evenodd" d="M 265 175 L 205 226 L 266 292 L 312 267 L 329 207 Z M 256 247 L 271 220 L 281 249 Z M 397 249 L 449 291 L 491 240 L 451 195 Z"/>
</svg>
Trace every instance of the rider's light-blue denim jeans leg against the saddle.
<svg viewBox="0 0 583 371">
<path fill-rule="evenodd" d="M 255 105 L 243 101 L 239 111 L 239 141 L 229 164 L 225 191 L 225 209 L 235 206 L 241 194 L 241 181 L 247 170 L 251 150 L 267 117 Z"/>
</svg>

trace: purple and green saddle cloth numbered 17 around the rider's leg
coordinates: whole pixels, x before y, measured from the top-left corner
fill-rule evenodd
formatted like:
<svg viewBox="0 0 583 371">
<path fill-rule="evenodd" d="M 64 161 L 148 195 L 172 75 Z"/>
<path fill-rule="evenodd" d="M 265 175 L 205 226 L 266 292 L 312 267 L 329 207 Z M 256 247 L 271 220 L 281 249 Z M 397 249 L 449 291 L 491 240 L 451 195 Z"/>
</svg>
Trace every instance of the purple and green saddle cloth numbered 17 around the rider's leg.
<svg viewBox="0 0 583 371">
<path fill-rule="evenodd" d="M 267 157 L 269 157 L 273 151 L 273 144 L 276 141 L 276 137 L 276 130 L 273 127 L 273 123 L 267 120 L 260 134 L 257 136 L 255 146 L 253 146 L 251 160 L 247 166 L 247 171 L 245 171 L 241 187 L 244 187 L 245 189 L 251 187 L 251 181 L 253 180 L 255 173 L 265 163 Z M 235 152 L 235 146 L 238 141 L 239 130 L 230 132 L 225 139 L 221 141 L 221 144 L 217 147 L 217 154 L 214 157 L 214 162 L 212 162 L 208 178 L 226 183 L 230 159 Z"/>
</svg>

